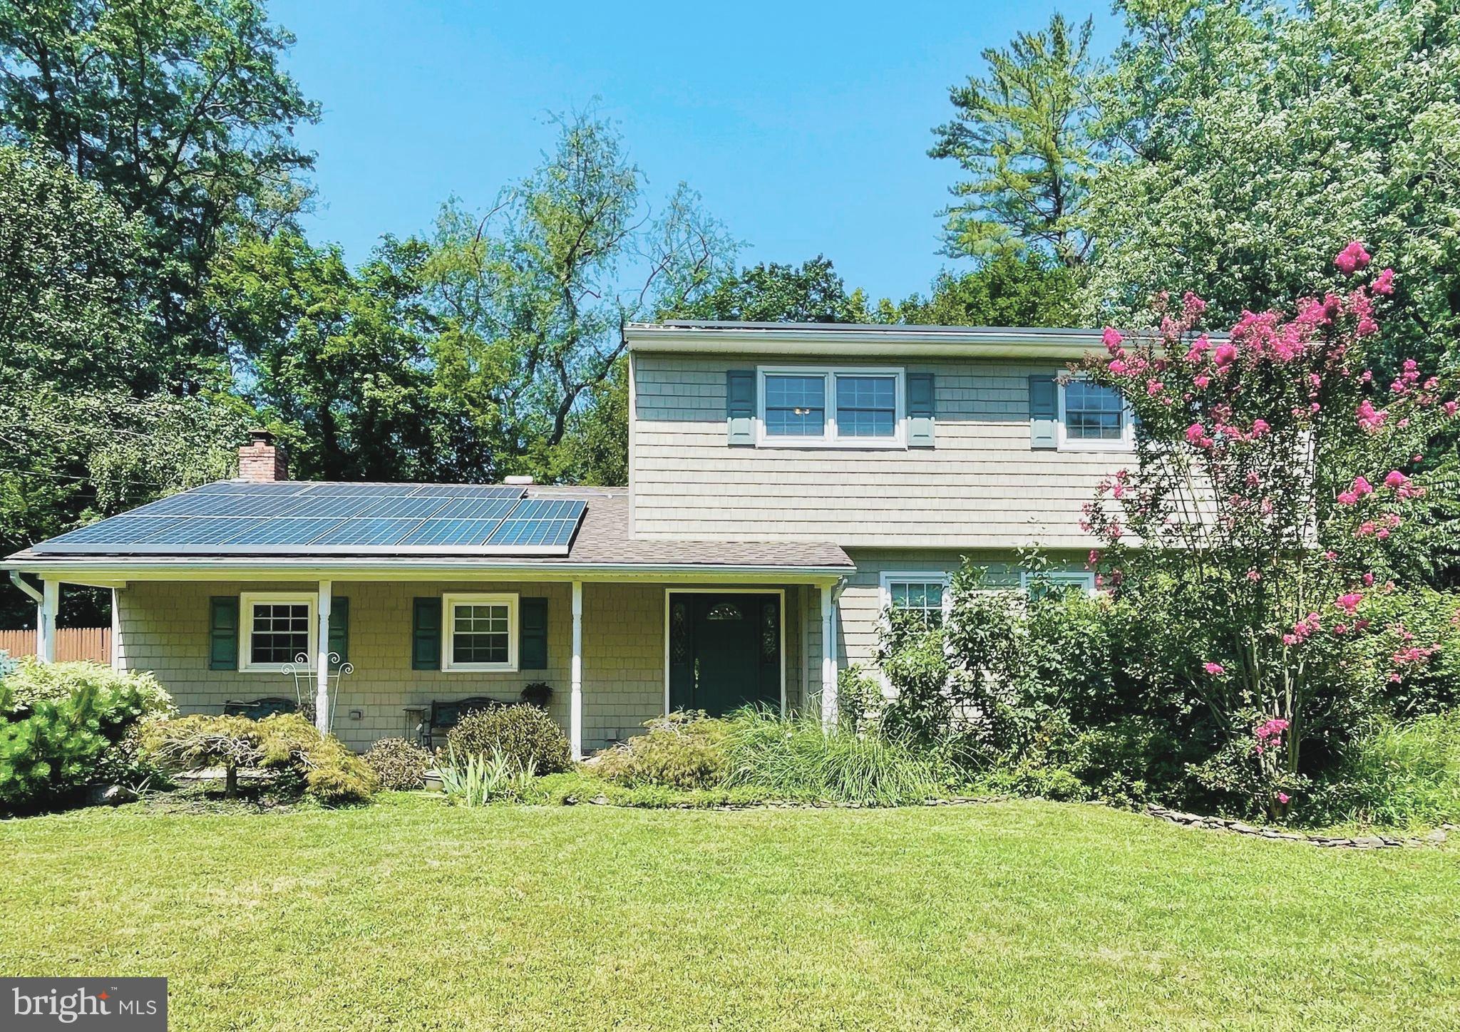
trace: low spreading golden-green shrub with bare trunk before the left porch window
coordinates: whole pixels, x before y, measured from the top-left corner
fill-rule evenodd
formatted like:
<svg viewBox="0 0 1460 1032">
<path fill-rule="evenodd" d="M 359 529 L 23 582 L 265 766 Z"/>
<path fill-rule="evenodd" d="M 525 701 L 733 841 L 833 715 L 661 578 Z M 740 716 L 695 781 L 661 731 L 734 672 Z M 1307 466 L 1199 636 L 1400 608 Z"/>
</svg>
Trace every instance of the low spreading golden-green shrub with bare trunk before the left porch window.
<svg viewBox="0 0 1460 1032">
<path fill-rule="evenodd" d="M 365 762 L 299 714 L 180 717 L 146 730 L 145 750 L 171 769 L 222 766 L 225 794 L 238 794 L 238 771 L 257 766 L 301 784 L 321 803 L 358 803 L 380 787 Z"/>
</svg>

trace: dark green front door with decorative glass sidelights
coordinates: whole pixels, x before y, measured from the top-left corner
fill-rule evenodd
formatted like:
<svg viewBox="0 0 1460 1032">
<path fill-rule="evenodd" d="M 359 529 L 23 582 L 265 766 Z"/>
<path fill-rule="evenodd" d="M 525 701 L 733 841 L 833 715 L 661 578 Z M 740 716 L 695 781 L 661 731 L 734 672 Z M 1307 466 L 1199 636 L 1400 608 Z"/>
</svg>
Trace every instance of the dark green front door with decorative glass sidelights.
<svg viewBox="0 0 1460 1032">
<path fill-rule="evenodd" d="M 669 706 L 721 717 L 781 702 L 778 594 L 669 596 Z"/>
</svg>

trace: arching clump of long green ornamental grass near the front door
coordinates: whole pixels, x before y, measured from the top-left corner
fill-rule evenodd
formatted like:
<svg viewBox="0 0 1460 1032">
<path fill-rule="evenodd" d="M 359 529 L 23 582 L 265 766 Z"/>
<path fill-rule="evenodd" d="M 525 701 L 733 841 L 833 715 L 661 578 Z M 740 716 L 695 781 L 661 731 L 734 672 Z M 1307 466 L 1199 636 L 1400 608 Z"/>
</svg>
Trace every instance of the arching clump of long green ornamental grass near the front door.
<svg viewBox="0 0 1460 1032">
<path fill-rule="evenodd" d="M 956 772 L 937 753 L 879 733 L 825 730 L 815 717 L 742 711 L 726 733 L 726 784 L 784 798 L 901 806 L 945 791 Z"/>
</svg>

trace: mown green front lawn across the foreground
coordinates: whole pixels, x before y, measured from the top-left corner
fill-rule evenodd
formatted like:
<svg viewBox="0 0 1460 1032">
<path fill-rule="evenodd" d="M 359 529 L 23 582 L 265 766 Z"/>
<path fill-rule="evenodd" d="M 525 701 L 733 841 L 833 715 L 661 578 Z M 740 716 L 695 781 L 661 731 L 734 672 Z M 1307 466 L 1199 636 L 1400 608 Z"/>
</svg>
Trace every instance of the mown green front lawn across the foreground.
<svg viewBox="0 0 1460 1032">
<path fill-rule="evenodd" d="M 1460 852 L 1086 806 L 0 823 L 0 974 L 174 1029 L 1460 1028 Z"/>
</svg>

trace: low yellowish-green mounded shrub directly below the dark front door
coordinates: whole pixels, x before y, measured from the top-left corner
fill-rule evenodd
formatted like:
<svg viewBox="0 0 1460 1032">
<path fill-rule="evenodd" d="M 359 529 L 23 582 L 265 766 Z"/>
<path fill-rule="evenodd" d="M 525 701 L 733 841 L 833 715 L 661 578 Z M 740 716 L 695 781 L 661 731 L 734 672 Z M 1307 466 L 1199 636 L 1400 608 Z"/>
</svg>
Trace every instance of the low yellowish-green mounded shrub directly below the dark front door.
<svg viewBox="0 0 1460 1032">
<path fill-rule="evenodd" d="M 730 772 L 723 720 L 676 712 L 644 724 L 648 728 L 615 749 L 599 753 L 594 772 L 613 784 L 712 788 Z"/>
</svg>

